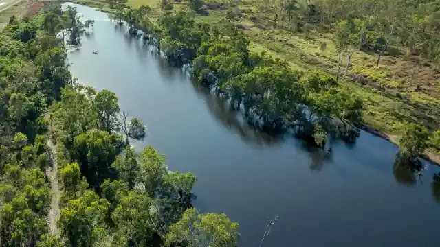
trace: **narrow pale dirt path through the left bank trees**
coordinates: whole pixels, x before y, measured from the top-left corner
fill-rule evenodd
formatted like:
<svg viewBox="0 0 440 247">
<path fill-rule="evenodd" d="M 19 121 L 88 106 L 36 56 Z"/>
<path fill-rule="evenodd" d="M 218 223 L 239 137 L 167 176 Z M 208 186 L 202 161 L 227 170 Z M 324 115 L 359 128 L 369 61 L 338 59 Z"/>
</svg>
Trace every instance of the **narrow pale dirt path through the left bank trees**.
<svg viewBox="0 0 440 247">
<path fill-rule="evenodd" d="M 46 174 L 50 179 L 51 192 L 53 195 L 47 222 L 49 223 L 50 234 L 58 235 L 59 231 L 56 222 L 58 222 L 58 217 L 60 217 L 60 205 L 58 204 L 58 201 L 60 200 L 61 191 L 58 186 L 58 180 L 56 179 L 56 174 L 58 172 L 58 164 L 56 163 L 56 145 L 54 145 L 50 137 L 47 139 L 47 146 L 50 148 L 52 167 L 47 167 Z"/>
</svg>

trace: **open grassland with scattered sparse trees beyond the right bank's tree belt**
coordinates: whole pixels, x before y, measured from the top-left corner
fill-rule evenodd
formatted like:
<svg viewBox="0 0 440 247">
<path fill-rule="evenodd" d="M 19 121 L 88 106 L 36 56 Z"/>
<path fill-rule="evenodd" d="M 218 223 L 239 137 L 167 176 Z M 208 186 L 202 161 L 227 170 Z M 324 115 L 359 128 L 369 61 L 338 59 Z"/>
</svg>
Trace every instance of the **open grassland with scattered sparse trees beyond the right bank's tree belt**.
<svg viewBox="0 0 440 247">
<path fill-rule="evenodd" d="M 168 40 L 174 42 L 183 37 L 164 34 L 167 27 L 163 20 L 167 16 L 182 15 L 181 12 L 186 13 L 197 28 L 209 26 L 204 31 L 209 30 L 210 35 L 230 36 L 230 27 L 234 27 L 247 40 L 252 56 L 279 58 L 285 68 L 300 75 L 300 81 L 318 74 L 320 78 L 333 78 L 338 82 L 334 85 L 338 91 L 354 93 L 362 101 L 363 110 L 352 123 L 387 132 L 390 135 L 386 138 L 395 143 L 413 127 L 412 124 L 419 124 L 429 134 L 426 139 L 428 152 L 439 154 L 437 64 L 440 36 L 439 5 L 435 1 L 75 2 L 112 12 L 117 19 L 125 19 L 151 35 L 153 31 L 148 30 L 149 25 L 155 28 L 154 32 L 160 33 L 153 39 L 159 37 L 167 45 Z M 197 40 L 185 42 L 192 43 L 193 47 L 197 47 L 195 43 L 201 44 Z M 190 64 L 196 55 L 193 49 L 185 61 L 179 62 Z M 244 71 L 252 69 L 252 65 L 245 64 Z M 234 74 L 227 77 L 234 78 Z M 223 84 L 221 80 L 218 82 Z M 334 113 L 331 115 L 335 117 Z"/>
</svg>

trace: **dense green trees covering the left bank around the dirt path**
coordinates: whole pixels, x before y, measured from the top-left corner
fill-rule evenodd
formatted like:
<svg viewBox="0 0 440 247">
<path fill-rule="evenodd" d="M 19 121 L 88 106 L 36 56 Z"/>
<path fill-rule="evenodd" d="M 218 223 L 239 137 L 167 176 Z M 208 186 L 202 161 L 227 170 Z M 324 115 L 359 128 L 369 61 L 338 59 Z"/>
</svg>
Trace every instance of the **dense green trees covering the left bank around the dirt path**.
<svg viewBox="0 0 440 247">
<path fill-rule="evenodd" d="M 12 18 L 0 34 L 0 246 L 236 246 L 238 224 L 192 208 L 190 172 L 169 171 L 151 146 L 131 148 L 142 121 L 114 93 L 72 80 L 56 33 L 74 27 L 74 12 Z M 47 223 L 53 152 L 59 236 Z"/>
</svg>

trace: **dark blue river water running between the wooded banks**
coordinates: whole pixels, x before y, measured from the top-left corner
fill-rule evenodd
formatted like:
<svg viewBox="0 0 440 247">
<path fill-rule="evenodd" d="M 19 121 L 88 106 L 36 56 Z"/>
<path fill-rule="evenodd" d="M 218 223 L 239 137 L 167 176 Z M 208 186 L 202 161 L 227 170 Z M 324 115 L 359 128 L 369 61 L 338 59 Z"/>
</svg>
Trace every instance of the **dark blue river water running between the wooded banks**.
<svg viewBox="0 0 440 247">
<path fill-rule="evenodd" d="M 259 246 L 276 216 L 263 246 L 439 246 L 438 167 L 420 179 L 395 169 L 395 145 L 366 132 L 355 145 L 333 141 L 330 158 L 289 135 L 255 132 L 107 14 L 77 7 L 96 22 L 69 53 L 74 77 L 114 91 L 121 108 L 144 120 L 137 148 L 151 144 L 170 169 L 195 174 L 195 207 L 239 222 L 239 246 Z"/>
</svg>

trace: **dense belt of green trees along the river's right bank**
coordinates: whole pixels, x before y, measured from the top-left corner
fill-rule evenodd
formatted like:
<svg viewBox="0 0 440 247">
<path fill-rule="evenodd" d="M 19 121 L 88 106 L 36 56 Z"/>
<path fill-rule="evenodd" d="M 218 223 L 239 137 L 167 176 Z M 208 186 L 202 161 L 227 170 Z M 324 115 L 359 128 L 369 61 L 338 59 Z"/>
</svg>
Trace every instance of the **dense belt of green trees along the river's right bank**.
<svg viewBox="0 0 440 247">
<path fill-rule="evenodd" d="M 130 30 L 142 30 L 173 64 L 190 65 L 195 80 L 243 110 L 250 124 L 270 132 L 290 128 L 320 146 L 328 134 L 358 137 L 353 124 L 362 120 L 362 100 L 332 78 L 306 78 L 287 62 L 250 52 L 248 38 L 228 21 L 212 26 L 178 12 L 155 23 L 146 9 L 126 12 Z"/>
</svg>

